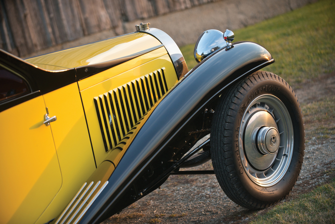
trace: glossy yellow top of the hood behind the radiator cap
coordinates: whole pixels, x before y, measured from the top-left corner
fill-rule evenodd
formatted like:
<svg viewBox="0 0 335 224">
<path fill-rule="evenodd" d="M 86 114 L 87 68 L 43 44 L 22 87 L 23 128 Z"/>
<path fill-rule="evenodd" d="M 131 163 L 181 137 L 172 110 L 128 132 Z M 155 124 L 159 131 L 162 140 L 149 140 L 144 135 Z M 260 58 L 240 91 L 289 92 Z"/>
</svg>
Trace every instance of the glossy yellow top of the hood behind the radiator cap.
<svg viewBox="0 0 335 224">
<path fill-rule="evenodd" d="M 76 48 L 37 56 L 27 59 L 26 61 L 36 66 L 42 66 L 41 64 L 44 64 L 48 66 L 75 68 L 126 57 L 159 45 L 161 45 L 161 43 L 151 35 L 132 33 Z"/>
</svg>

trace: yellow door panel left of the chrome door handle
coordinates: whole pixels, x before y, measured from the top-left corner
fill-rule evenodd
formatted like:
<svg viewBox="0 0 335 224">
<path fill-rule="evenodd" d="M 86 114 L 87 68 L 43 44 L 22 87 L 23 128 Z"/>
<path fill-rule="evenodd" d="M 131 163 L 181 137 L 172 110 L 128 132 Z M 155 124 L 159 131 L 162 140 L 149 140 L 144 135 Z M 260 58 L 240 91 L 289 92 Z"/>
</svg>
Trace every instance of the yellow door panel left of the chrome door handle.
<svg viewBox="0 0 335 224">
<path fill-rule="evenodd" d="M 0 113 L 0 222 L 33 223 L 61 186 L 43 97 Z"/>
</svg>

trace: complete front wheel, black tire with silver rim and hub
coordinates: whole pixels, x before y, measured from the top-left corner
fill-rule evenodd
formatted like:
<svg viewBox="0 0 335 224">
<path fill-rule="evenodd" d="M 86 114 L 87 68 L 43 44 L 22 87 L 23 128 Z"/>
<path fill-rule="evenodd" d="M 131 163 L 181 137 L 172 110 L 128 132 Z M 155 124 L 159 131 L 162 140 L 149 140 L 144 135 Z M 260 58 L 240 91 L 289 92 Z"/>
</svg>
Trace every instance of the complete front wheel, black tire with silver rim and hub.
<svg viewBox="0 0 335 224">
<path fill-rule="evenodd" d="M 279 76 L 258 71 L 222 94 L 210 138 L 216 178 L 235 203 L 265 208 L 294 186 L 304 155 L 303 118 Z"/>
</svg>

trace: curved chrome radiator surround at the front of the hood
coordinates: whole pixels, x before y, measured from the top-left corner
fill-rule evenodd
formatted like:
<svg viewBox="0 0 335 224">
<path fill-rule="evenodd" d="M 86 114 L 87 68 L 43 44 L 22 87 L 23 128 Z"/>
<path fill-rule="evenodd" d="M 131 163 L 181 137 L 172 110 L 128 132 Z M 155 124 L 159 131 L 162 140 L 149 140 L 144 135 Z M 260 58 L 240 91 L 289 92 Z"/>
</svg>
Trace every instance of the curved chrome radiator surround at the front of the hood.
<svg viewBox="0 0 335 224">
<path fill-rule="evenodd" d="M 168 36 L 165 32 L 155 28 L 150 28 L 139 32 L 150 34 L 164 45 L 174 65 L 178 79 L 183 77 L 188 72 L 187 65 L 184 57 L 181 54 L 181 51 L 170 36 Z"/>
</svg>

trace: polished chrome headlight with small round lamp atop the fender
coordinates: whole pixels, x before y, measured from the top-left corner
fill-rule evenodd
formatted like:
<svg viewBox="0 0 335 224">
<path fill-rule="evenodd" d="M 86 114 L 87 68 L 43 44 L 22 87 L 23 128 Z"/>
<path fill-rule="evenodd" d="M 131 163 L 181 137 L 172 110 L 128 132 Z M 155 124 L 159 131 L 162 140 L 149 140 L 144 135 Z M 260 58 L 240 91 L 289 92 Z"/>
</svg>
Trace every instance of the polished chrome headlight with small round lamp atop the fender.
<svg viewBox="0 0 335 224">
<path fill-rule="evenodd" d="M 197 63 L 201 62 L 207 56 L 218 49 L 231 47 L 231 41 L 234 40 L 234 33 L 226 30 L 224 34 L 218 30 L 207 30 L 203 32 L 194 47 L 194 59 Z"/>
</svg>

